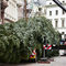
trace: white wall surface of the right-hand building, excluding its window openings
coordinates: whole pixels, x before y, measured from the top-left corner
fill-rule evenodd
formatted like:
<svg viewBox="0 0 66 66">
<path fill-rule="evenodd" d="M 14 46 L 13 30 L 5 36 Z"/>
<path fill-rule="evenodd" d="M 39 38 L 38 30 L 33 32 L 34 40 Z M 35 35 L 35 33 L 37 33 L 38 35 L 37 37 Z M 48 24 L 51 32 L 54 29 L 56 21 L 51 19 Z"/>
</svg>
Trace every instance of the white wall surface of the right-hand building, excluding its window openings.
<svg viewBox="0 0 66 66">
<path fill-rule="evenodd" d="M 65 0 L 61 0 L 62 2 Z M 50 4 L 52 2 L 52 4 Z M 57 7 L 52 0 L 46 1 L 46 18 L 52 21 L 53 26 L 55 30 L 62 32 L 65 32 L 66 34 L 66 13 L 63 14 L 63 10 Z M 66 1 L 64 3 L 64 7 L 66 7 Z M 58 14 L 56 15 L 56 10 L 58 10 Z M 52 15 L 50 15 L 50 11 L 52 11 Z M 65 20 L 64 28 L 62 28 L 62 20 Z M 55 20 L 58 20 L 57 28 L 55 26 Z"/>
</svg>

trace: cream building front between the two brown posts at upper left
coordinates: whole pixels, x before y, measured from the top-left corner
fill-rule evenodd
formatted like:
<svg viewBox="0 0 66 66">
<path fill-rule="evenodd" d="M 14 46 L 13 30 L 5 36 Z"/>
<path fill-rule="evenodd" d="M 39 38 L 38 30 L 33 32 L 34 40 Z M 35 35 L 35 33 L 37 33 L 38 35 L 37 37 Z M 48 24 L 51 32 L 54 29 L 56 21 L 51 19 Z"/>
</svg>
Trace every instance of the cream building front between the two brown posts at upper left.
<svg viewBox="0 0 66 66">
<path fill-rule="evenodd" d="M 21 6 L 22 0 L 9 0 L 8 8 L 4 11 L 4 22 L 18 21 L 18 8 Z"/>
</svg>

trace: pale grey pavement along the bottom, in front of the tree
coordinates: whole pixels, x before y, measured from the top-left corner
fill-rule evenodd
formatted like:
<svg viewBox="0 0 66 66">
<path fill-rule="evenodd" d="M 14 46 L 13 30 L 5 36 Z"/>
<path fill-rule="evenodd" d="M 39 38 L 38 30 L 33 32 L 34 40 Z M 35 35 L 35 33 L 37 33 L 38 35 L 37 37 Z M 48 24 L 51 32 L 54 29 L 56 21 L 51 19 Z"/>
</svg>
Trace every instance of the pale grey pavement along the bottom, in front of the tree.
<svg viewBox="0 0 66 66">
<path fill-rule="evenodd" d="M 66 66 L 66 56 L 54 57 L 54 62 L 51 62 L 51 64 L 32 63 L 32 64 L 0 65 L 0 66 Z"/>
</svg>

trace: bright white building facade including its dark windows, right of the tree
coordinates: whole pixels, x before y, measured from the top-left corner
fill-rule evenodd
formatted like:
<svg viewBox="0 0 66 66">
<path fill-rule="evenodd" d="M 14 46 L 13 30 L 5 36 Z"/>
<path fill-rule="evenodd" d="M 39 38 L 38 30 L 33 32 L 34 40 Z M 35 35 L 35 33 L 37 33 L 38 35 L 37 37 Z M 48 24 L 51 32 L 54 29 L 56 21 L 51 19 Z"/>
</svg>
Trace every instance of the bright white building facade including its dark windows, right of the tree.
<svg viewBox="0 0 66 66">
<path fill-rule="evenodd" d="M 66 7 L 66 0 L 59 0 Z M 66 13 L 53 0 L 46 0 L 46 18 L 52 21 L 56 31 L 66 35 Z"/>
</svg>

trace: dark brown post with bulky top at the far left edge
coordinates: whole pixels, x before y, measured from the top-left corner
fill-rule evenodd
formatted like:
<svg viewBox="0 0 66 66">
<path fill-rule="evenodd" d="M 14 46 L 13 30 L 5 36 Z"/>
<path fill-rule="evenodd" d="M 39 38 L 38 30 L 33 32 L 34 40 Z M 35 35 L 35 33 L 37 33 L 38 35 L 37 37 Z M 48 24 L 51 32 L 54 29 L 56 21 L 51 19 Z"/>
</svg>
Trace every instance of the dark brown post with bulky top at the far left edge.
<svg viewBox="0 0 66 66">
<path fill-rule="evenodd" d="M 2 24 L 4 22 L 4 10 L 8 7 L 8 1 L 9 0 L 1 0 L 1 20 L 2 20 Z"/>
</svg>

